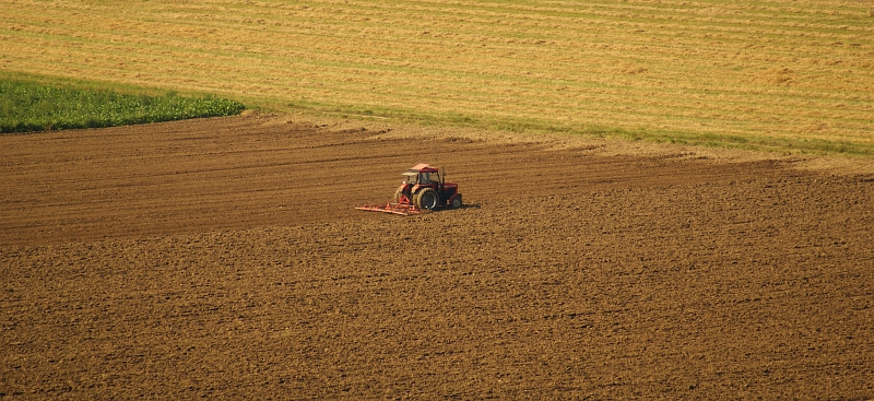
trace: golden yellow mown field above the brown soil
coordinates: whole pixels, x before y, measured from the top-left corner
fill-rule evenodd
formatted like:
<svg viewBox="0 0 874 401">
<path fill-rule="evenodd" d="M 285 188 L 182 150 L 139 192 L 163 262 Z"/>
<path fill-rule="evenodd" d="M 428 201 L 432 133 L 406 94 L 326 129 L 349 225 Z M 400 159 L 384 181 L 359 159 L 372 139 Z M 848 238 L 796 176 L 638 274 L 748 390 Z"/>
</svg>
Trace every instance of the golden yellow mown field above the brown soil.
<svg viewBox="0 0 874 401">
<path fill-rule="evenodd" d="M 0 72 L 280 110 L 871 155 L 873 8 L 10 0 Z"/>
</svg>

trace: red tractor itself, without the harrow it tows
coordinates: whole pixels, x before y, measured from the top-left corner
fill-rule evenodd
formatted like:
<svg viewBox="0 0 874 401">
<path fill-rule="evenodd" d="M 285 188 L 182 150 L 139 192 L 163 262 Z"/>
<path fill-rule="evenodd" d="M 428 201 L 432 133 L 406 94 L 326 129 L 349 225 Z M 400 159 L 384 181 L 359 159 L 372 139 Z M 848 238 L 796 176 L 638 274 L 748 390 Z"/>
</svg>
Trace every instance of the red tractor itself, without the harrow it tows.
<svg viewBox="0 0 874 401">
<path fill-rule="evenodd" d="M 403 184 L 394 191 L 395 202 L 406 197 L 420 210 L 434 210 L 447 204 L 452 209 L 461 208 L 458 184 L 446 182 L 446 175 L 438 168 L 417 164 L 403 176 Z"/>
</svg>

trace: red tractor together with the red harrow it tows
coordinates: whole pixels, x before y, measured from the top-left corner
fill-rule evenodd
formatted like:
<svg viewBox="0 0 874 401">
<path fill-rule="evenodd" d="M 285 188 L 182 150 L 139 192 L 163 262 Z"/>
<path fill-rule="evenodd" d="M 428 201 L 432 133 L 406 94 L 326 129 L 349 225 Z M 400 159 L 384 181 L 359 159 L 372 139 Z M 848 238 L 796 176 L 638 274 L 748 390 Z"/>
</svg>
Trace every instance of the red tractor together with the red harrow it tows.
<svg viewBox="0 0 874 401">
<path fill-rule="evenodd" d="M 403 174 L 404 180 L 394 191 L 394 200 L 380 205 L 363 205 L 355 209 L 402 215 L 420 213 L 449 205 L 461 208 L 458 184 L 446 182 L 446 175 L 436 167 L 417 164 Z"/>
</svg>

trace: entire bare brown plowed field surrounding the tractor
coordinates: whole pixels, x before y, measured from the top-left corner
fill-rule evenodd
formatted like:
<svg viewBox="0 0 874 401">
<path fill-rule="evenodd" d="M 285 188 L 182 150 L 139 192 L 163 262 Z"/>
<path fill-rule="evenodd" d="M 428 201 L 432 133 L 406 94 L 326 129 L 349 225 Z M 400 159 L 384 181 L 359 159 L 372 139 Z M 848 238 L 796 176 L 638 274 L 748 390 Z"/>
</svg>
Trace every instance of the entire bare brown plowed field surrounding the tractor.
<svg viewBox="0 0 874 401">
<path fill-rule="evenodd" d="M 546 148 L 2 137 L 0 397 L 874 397 L 874 177 Z M 418 162 L 469 205 L 352 209 Z"/>
</svg>

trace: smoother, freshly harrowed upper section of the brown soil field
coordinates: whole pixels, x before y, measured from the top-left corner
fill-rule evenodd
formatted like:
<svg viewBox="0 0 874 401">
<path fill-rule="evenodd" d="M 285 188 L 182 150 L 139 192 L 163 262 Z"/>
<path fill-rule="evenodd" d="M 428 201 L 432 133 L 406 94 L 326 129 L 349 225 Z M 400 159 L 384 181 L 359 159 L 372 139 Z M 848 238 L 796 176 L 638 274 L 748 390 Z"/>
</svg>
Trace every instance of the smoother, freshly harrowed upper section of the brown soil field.
<svg viewBox="0 0 874 401">
<path fill-rule="evenodd" d="M 383 139 L 363 128 L 333 132 L 264 116 L 206 121 L 3 138 L 0 243 L 361 217 L 352 207 L 389 199 L 400 173 L 420 162 L 447 167 L 472 202 L 580 185 L 730 179 L 748 168 L 672 163 L 680 154 L 604 158 L 452 137 Z M 528 172 L 532 163 L 542 169 Z"/>
</svg>

